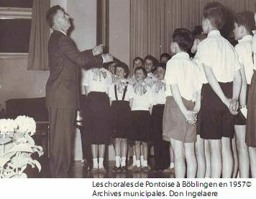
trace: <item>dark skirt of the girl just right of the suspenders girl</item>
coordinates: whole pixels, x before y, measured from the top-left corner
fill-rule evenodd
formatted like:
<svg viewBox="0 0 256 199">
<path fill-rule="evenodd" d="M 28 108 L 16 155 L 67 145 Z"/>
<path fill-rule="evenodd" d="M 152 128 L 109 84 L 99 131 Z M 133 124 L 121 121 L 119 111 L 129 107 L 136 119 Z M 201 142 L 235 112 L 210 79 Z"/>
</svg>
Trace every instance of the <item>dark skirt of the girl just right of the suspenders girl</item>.
<svg viewBox="0 0 256 199">
<path fill-rule="evenodd" d="M 147 110 L 132 111 L 132 124 L 133 132 L 130 139 L 148 142 L 150 140 L 150 112 Z"/>
</svg>

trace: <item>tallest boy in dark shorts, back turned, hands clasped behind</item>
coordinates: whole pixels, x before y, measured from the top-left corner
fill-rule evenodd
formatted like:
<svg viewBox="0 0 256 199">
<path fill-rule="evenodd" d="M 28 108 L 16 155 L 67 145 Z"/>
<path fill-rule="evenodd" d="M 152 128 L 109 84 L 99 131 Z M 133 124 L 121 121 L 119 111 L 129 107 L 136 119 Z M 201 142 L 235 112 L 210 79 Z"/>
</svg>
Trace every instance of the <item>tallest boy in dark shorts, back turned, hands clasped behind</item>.
<svg viewBox="0 0 256 199">
<path fill-rule="evenodd" d="M 219 32 L 225 21 L 226 9 L 222 4 L 209 2 L 204 6 L 202 28 L 208 35 L 198 45 L 196 54 L 205 74 L 201 89 L 200 135 L 209 140 L 211 178 L 220 178 L 221 172 L 223 178 L 232 176 L 230 139 L 234 135 L 234 115 L 242 82 L 237 53 Z"/>
</svg>

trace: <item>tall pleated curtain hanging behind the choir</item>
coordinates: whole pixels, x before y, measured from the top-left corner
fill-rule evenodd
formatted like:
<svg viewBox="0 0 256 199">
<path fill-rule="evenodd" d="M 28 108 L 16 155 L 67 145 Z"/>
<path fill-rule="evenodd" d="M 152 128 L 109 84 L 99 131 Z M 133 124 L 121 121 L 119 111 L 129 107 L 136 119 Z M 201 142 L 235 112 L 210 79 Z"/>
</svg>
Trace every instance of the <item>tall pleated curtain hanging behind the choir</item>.
<svg viewBox="0 0 256 199">
<path fill-rule="evenodd" d="M 201 25 L 204 5 L 210 0 L 131 0 L 130 63 L 147 54 L 157 59 L 170 53 L 170 37 L 176 28 Z M 216 0 L 218 1 L 218 0 Z M 255 0 L 219 0 L 234 13 L 254 11 Z"/>
</svg>

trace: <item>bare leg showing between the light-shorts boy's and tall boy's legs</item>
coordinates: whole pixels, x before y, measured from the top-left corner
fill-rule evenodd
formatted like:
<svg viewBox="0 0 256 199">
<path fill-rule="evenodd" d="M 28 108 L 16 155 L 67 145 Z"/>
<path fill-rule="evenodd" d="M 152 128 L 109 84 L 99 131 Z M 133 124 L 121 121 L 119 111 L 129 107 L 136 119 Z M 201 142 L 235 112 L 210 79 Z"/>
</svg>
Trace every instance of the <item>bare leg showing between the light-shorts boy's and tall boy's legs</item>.
<svg viewBox="0 0 256 199">
<path fill-rule="evenodd" d="M 204 154 L 204 139 L 197 135 L 196 138 L 196 159 L 198 162 L 196 178 L 204 178 L 206 175 L 206 158 Z"/>
</svg>

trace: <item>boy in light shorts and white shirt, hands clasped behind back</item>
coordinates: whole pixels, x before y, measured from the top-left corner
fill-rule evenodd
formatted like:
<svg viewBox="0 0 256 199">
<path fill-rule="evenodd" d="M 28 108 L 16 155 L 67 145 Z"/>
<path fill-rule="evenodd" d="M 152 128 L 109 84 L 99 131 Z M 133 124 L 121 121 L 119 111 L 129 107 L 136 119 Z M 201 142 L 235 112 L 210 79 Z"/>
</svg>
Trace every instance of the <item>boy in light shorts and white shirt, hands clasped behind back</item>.
<svg viewBox="0 0 256 199">
<path fill-rule="evenodd" d="M 172 96 L 165 102 L 163 140 L 170 140 L 174 150 L 175 178 L 185 178 L 186 173 L 187 178 L 196 178 L 195 124 L 200 109 L 201 84 L 197 66 L 187 53 L 192 44 L 191 31 L 175 29 L 170 44 L 175 55 L 168 61 L 165 72 L 166 85 L 170 87 Z"/>
</svg>

